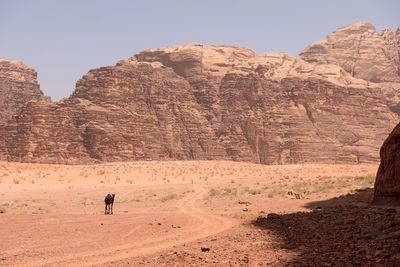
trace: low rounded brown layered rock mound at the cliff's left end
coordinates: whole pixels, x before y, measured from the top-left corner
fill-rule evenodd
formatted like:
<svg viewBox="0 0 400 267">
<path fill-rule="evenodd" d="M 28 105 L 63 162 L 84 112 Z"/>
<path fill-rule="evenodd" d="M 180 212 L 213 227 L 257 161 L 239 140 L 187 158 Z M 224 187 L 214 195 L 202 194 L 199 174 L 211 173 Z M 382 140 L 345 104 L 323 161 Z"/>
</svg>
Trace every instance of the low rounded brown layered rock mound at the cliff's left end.
<svg viewBox="0 0 400 267">
<path fill-rule="evenodd" d="M 0 127 L 0 159 L 35 163 L 90 162 L 81 133 L 57 104 L 27 103 Z"/>
</svg>

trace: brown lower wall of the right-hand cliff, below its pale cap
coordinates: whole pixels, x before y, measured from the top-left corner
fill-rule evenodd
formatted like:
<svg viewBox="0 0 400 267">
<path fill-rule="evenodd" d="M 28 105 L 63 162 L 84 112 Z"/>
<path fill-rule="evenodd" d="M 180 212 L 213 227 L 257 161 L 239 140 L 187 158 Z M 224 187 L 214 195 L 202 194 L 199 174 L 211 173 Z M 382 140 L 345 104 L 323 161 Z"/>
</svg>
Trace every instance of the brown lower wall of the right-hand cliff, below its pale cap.
<svg viewBox="0 0 400 267">
<path fill-rule="evenodd" d="M 286 78 L 277 83 L 232 74 L 221 85 L 221 94 L 217 135 L 235 160 L 374 162 L 382 136 L 397 122 L 375 98 L 374 89 L 315 79 Z"/>
</svg>

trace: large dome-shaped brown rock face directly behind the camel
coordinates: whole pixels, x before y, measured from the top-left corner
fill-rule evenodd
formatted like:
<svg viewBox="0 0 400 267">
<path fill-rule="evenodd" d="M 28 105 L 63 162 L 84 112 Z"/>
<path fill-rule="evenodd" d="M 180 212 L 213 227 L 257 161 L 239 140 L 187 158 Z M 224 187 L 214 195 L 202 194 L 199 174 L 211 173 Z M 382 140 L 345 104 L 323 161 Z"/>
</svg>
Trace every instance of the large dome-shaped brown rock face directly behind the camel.
<svg viewBox="0 0 400 267">
<path fill-rule="evenodd" d="M 161 64 L 92 70 L 60 105 L 95 159 L 227 158 L 188 82 Z"/>
</svg>

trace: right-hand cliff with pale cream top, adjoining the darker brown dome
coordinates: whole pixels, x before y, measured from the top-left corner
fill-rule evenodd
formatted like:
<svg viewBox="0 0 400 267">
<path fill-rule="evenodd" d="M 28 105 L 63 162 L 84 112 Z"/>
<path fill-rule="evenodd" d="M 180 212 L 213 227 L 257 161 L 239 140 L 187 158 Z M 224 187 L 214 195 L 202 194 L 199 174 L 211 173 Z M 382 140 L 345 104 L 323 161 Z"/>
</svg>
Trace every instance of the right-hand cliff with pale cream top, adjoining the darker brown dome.
<svg viewBox="0 0 400 267">
<path fill-rule="evenodd" d="M 192 86 L 207 88 L 204 95 L 211 91 L 213 97 L 199 94 L 197 100 L 234 160 L 264 164 L 378 160 L 383 136 L 398 118 L 379 85 L 354 78 L 337 65 L 307 63 L 284 53 L 256 56 L 246 48 L 224 49 L 184 45 L 146 50 L 130 60 L 167 62 Z M 195 70 L 181 72 L 180 64 L 189 55 Z M 166 58 L 175 61 L 171 64 Z M 193 77 L 204 78 L 193 81 Z M 364 130 L 367 125 L 374 130 Z"/>
</svg>

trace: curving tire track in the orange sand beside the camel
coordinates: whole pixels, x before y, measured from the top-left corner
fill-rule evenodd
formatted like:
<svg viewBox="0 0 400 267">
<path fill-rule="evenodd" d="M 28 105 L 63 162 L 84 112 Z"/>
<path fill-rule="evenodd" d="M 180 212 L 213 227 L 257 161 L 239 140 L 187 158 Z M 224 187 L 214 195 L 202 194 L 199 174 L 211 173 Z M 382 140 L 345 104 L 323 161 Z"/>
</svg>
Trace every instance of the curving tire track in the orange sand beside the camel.
<svg viewBox="0 0 400 267">
<path fill-rule="evenodd" d="M 177 203 L 176 207 L 178 210 L 188 217 L 188 224 L 186 224 L 184 228 L 181 228 L 182 230 L 178 233 L 164 236 L 151 236 L 142 241 L 129 242 L 105 249 L 26 262 L 20 266 L 101 265 L 112 261 L 153 254 L 172 246 L 218 234 L 236 225 L 237 222 L 232 218 L 211 215 L 196 207 L 196 201 L 202 199 L 206 193 L 207 191 L 205 188 L 199 188 L 194 194 L 181 199 Z"/>
</svg>

